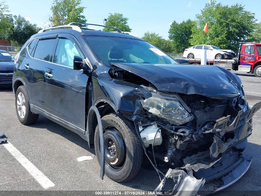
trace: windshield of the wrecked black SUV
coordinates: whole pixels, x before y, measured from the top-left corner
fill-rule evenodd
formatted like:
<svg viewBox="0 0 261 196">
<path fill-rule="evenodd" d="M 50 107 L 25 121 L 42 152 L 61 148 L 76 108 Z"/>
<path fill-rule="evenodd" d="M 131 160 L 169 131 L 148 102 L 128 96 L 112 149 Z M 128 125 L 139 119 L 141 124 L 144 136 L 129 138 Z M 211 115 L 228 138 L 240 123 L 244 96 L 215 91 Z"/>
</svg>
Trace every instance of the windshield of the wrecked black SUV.
<svg viewBox="0 0 261 196">
<path fill-rule="evenodd" d="M 146 41 L 103 36 L 85 36 L 89 46 L 105 65 L 110 63 L 178 64 Z"/>
</svg>

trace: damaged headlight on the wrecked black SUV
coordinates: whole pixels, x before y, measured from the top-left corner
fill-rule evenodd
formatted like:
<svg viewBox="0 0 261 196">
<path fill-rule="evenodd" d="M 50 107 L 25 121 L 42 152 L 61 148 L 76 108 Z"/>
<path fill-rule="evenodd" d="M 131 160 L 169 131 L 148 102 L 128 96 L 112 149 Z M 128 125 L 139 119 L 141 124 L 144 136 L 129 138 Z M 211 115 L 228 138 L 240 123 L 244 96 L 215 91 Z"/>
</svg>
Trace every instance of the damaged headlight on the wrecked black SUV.
<svg viewBox="0 0 261 196">
<path fill-rule="evenodd" d="M 179 100 L 149 97 L 140 100 L 140 102 L 145 110 L 159 117 L 166 118 L 176 125 L 187 123 L 193 118 Z"/>
</svg>

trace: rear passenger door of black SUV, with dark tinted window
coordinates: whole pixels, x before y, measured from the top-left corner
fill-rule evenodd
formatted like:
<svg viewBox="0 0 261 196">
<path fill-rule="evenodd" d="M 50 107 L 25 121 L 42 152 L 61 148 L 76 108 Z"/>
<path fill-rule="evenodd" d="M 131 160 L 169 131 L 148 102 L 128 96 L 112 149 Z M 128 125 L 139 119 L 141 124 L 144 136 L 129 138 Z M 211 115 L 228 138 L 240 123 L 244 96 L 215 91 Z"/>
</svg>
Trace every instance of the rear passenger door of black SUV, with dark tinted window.
<svg viewBox="0 0 261 196">
<path fill-rule="evenodd" d="M 56 45 L 56 34 L 45 35 L 33 39 L 27 46 L 28 58 L 24 61 L 23 72 L 26 77 L 26 85 L 31 107 L 44 111 L 44 72 L 52 60 L 52 54 Z"/>
</svg>

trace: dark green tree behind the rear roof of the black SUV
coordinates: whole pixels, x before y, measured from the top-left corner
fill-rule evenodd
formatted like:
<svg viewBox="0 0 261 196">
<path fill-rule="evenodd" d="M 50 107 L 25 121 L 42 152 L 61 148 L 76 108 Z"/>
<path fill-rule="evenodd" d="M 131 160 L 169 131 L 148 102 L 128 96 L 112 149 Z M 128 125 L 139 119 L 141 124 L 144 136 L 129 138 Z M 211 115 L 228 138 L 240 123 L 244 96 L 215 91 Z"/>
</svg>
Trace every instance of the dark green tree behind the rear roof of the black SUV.
<svg viewBox="0 0 261 196">
<path fill-rule="evenodd" d="M 38 28 L 36 24 L 31 24 L 21 15 L 14 15 L 14 25 L 9 29 L 8 40 L 16 42 L 18 46 L 22 46 L 39 30 L 40 28 Z"/>
</svg>

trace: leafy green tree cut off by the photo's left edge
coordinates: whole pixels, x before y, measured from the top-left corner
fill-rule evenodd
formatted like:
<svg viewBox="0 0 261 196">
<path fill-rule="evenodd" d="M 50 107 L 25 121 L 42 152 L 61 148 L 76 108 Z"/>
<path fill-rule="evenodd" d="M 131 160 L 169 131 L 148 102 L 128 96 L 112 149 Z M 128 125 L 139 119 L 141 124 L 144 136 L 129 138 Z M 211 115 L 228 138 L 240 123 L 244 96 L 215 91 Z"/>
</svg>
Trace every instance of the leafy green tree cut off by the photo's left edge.
<svg viewBox="0 0 261 196">
<path fill-rule="evenodd" d="M 8 12 L 5 2 L 0 2 L 0 39 L 7 39 L 7 32 L 13 23 L 12 15 L 6 14 Z"/>
</svg>

